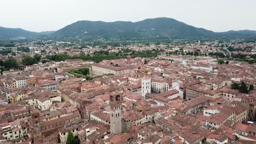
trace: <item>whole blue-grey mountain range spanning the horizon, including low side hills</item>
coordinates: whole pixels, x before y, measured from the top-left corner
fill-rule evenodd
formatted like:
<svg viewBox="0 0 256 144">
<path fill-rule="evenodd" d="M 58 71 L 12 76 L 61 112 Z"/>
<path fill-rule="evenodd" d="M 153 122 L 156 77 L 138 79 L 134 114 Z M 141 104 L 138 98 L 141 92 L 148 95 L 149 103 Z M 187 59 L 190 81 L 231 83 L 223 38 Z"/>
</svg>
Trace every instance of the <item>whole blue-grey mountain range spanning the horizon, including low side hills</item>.
<svg viewBox="0 0 256 144">
<path fill-rule="evenodd" d="M 59 30 L 30 32 L 21 28 L 0 27 L 0 39 L 37 38 L 86 38 L 86 39 L 127 39 L 144 38 L 212 38 L 212 37 L 256 37 L 256 31 L 212 32 L 207 29 L 187 25 L 177 20 L 159 17 L 138 22 L 77 21 Z"/>
</svg>

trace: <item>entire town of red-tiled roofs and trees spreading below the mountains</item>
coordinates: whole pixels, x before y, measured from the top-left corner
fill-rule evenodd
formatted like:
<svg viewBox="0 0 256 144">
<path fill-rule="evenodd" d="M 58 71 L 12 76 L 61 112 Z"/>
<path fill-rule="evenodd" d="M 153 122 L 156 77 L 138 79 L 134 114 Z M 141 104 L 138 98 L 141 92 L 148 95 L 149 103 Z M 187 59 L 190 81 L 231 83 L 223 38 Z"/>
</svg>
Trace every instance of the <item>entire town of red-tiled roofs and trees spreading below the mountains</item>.
<svg viewBox="0 0 256 144">
<path fill-rule="evenodd" d="M 0 43 L 0 143 L 255 143 L 256 41 Z"/>
</svg>

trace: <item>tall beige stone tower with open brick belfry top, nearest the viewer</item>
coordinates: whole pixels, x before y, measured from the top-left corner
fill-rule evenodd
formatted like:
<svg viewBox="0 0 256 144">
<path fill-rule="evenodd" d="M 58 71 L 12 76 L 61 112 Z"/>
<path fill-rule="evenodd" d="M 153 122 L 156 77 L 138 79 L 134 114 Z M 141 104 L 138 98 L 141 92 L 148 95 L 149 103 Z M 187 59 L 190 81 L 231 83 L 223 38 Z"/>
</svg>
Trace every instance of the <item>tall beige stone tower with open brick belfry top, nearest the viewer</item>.
<svg viewBox="0 0 256 144">
<path fill-rule="evenodd" d="M 109 98 L 110 105 L 110 132 L 120 134 L 122 132 L 122 106 L 123 97 L 120 93 L 112 93 Z"/>
</svg>

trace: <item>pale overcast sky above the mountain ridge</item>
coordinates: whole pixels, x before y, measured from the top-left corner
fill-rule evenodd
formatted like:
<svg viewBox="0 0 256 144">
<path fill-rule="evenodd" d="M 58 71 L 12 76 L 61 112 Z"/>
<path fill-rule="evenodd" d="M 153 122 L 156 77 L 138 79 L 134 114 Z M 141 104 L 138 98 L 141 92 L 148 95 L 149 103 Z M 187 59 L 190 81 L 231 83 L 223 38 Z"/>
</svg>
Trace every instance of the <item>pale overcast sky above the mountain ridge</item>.
<svg viewBox="0 0 256 144">
<path fill-rule="evenodd" d="M 1 0 L 0 26 L 56 31 L 79 20 L 171 17 L 214 32 L 256 30 L 255 0 Z"/>
</svg>

